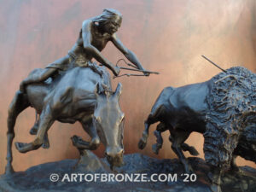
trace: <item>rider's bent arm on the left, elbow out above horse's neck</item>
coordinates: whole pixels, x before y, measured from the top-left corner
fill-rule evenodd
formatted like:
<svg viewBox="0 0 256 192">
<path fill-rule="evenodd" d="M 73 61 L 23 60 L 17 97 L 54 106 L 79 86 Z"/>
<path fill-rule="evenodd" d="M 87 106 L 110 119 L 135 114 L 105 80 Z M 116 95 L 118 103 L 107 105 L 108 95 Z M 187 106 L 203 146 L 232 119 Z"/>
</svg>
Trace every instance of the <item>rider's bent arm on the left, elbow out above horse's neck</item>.
<svg viewBox="0 0 256 192">
<path fill-rule="evenodd" d="M 84 49 L 87 53 L 90 53 L 96 61 L 99 61 L 102 63 L 102 65 L 108 67 L 115 75 L 118 75 L 117 69 L 113 66 L 113 64 L 108 61 L 101 52 L 96 49 L 95 46 L 91 44 L 92 38 L 91 38 L 91 20 L 84 20 L 83 26 L 82 26 L 82 37 L 83 37 L 83 43 L 84 43 Z"/>
</svg>

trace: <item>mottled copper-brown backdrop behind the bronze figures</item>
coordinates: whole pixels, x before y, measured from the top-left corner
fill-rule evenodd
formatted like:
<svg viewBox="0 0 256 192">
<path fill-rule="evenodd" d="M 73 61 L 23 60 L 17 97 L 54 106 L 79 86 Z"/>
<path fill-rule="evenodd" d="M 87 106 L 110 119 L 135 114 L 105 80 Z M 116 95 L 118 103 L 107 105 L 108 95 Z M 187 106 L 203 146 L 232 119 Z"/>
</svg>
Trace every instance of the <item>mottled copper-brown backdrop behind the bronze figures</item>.
<svg viewBox="0 0 256 192">
<path fill-rule="evenodd" d="M 102 13 L 104 8 L 118 9 L 124 16 L 118 32 L 125 46 L 133 50 L 143 66 L 160 72 L 148 78 L 119 78 L 123 84 L 121 108 L 125 113 L 125 153 L 151 152 L 154 137 L 151 129 L 148 146 L 140 151 L 137 142 L 143 121 L 160 90 L 205 81 L 219 73 L 218 68 L 201 58 L 207 55 L 221 67 L 244 66 L 256 73 L 256 3 L 254 0 L 0 0 L 0 174 L 6 155 L 6 119 L 9 103 L 20 81 L 36 67 L 45 67 L 67 54 L 78 38 L 82 21 Z M 122 56 L 112 44 L 102 53 L 113 63 Z M 17 119 L 15 142 L 31 142 L 29 130 L 34 121 L 32 108 Z M 88 138 L 79 124 L 55 122 L 49 130 L 50 148 L 27 154 L 14 149 L 16 171 L 44 162 L 78 158 L 71 144 L 74 134 Z M 159 158 L 174 158 L 164 134 Z M 193 133 L 188 143 L 201 153 L 203 137 Z M 102 155 L 101 146 L 96 154 Z M 188 155 L 188 154 L 186 154 Z M 239 165 L 256 165 L 238 159 Z"/>
</svg>

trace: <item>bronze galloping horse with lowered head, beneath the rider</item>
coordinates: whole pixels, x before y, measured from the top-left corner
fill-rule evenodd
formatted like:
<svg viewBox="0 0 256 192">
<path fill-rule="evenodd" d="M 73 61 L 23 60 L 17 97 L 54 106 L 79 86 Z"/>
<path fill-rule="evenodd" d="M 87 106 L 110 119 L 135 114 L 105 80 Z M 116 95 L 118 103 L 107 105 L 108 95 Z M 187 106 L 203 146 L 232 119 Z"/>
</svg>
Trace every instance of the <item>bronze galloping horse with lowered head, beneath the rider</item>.
<svg viewBox="0 0 256 192">
<path fill-rule="evenodd" d="M 36 69 L 30 75 L 42 70 Z M 74 136 L 73 145 L 79 150 L 95 150 L 102 142 L 111 168 L 123 164 L 125 115 L 119 107 L 122 85 L 119 83 L 113 91 L 107 69 L 98 67 L 98 71 L 102 73 L 95 73 L 91 67 L 73 67 L 55 79 L 28 84 L 25 93 L 20 90 L 16 92 L 8 114 L 6 174 L 14 172 L 12 143 L 15 122 L 17 116 L 28 107 L 35 108 L 40 114 L 38 131 L 31 143 L 15 143 L 20 153 L 40 148 L 55 120 L 69 124 L 79 121 L 91 140 L 86 142 Z"/>
</svg>

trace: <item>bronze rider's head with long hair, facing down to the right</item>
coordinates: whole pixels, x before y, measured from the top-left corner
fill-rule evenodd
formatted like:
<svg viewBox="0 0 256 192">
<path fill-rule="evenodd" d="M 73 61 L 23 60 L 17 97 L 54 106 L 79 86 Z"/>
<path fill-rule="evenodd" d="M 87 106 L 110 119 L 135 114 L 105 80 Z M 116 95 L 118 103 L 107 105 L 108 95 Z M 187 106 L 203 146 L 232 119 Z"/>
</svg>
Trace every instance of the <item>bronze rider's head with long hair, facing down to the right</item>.
<svg viewBox="0 0 256 192">
<path fill-rule="evenodd" d="M 104 9 L 102 15 L 96 21 L 102 26 L 105 32 L 113 34 L 117 32 L 122 23 L 122 15 L 115 9 Z"/>
</svg>

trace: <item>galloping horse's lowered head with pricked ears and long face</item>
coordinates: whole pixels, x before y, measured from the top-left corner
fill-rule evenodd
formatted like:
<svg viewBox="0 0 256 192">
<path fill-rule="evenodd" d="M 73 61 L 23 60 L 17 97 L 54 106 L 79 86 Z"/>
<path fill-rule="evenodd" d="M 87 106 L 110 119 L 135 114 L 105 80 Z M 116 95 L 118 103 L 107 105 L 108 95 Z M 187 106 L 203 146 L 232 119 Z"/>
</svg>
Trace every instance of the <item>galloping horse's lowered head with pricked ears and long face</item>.
<svg viewBox="0 0 256 192">
<path fill-rule="evenodd" d="M 125 114 L 119 107 L 119 97 L 122 85 L 116 90 L 106 90 L 101 84 L 96 85 L 96 109 L 93 124 L 106 147 L 105 154 L 111 167 L 121 166 L 123 163 L 123 131 Z"/>
</svg>

